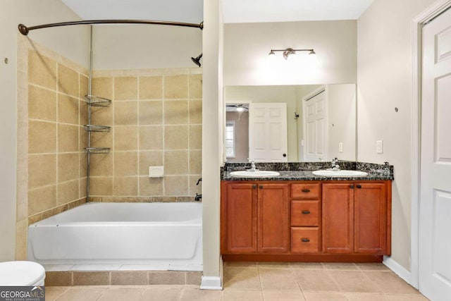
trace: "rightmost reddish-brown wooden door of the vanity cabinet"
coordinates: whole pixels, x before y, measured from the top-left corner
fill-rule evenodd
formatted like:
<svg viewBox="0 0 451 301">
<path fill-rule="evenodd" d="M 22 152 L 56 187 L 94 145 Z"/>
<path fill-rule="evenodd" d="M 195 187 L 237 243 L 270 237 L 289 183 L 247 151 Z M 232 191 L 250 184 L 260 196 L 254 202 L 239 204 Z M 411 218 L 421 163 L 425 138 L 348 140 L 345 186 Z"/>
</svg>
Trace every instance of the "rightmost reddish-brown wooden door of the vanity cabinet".
<svg viewBox="0 0 451 301">
<path fill-rule="evenodd" d="M 385 183 L 357 183 L 354 195 L 354 252 L 385 254 L 387 190 Z"/>
</svg>

